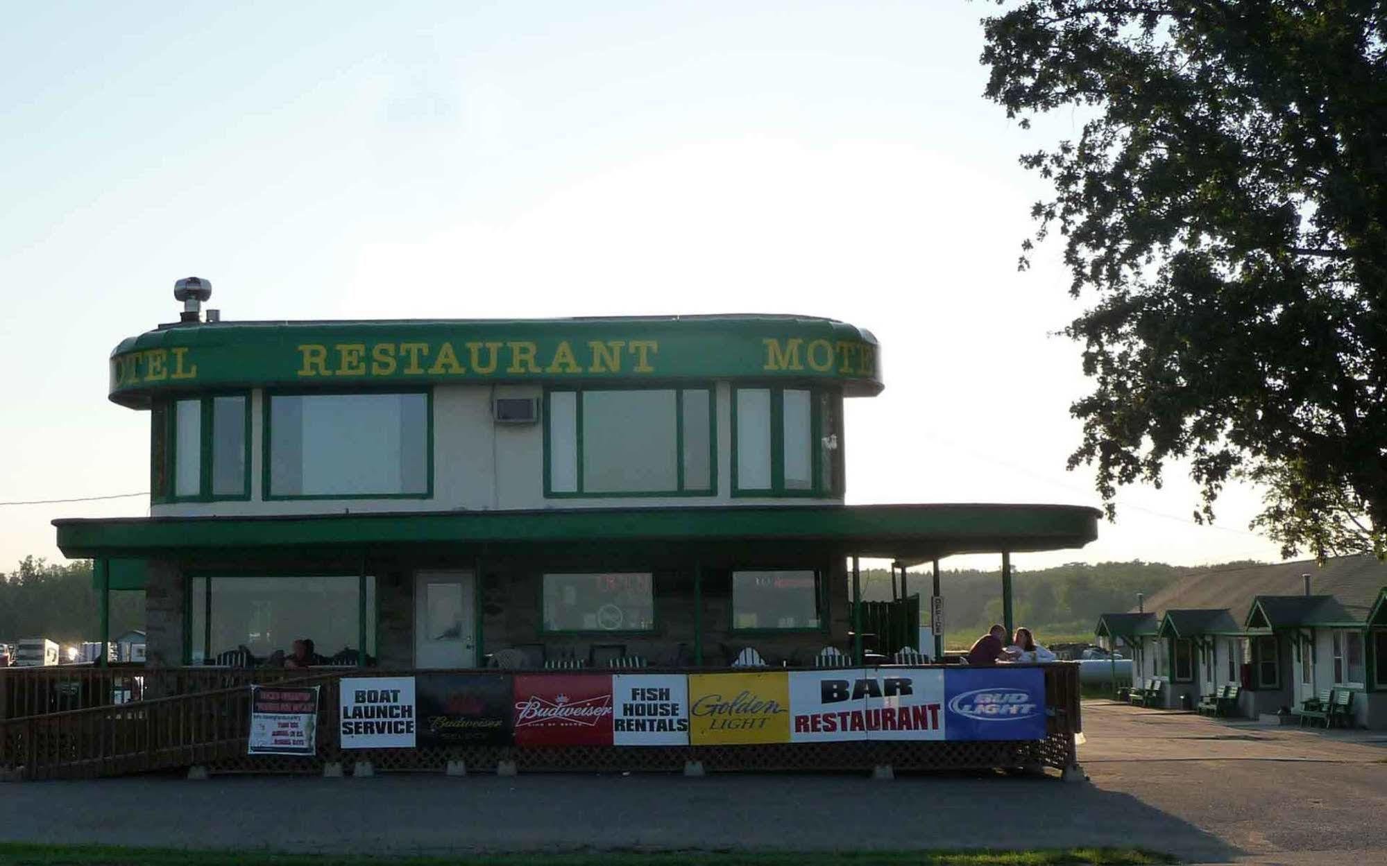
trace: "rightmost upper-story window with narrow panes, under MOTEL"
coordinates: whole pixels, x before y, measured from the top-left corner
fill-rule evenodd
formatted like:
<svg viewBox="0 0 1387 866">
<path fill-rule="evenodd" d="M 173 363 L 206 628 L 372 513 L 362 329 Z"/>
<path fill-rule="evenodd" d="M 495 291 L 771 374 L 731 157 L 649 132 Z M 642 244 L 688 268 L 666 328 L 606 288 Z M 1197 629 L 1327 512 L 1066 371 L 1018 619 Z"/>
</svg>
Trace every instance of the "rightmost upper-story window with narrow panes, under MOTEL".
<svg viewBox="0 0 1387 866">
<path fill-rule="evenodd" d="M 810 388 L 732 391 L 732 495 L 841 495 L 839 399 Z"/>
</svg>

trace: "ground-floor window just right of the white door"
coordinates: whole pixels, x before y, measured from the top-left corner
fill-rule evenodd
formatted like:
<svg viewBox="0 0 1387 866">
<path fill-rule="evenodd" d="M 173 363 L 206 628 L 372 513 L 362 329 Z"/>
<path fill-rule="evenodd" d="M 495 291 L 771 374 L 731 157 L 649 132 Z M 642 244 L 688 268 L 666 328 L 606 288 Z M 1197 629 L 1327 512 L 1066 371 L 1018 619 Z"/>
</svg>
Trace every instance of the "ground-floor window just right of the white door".
<svg viewBox="0 0 1387 866">
<path fill-rule="evenodd" d="M 651 572 L 544 575 L 545 632 L 655 630 Z"/>
</svg>

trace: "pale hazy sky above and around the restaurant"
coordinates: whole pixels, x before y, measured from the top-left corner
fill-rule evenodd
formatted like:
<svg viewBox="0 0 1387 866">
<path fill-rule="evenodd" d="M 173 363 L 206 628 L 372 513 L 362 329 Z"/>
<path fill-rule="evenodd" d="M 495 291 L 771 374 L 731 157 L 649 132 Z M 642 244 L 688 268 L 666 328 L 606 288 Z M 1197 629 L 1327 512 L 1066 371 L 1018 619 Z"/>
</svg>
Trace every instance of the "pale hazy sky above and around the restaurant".
<svg viewBox="0 0 1387 866">
<path fill-rule="evenodd" d="M 1067 472 L 1079 313 L 1060 247 L 1017 273 L 1076 136 L 981 97 L 978 18 L 929 3 L 14 6 L 0 30 L 0 502 L 147 489 L 148 416 L 105 399 L 123 337 L 214 283 L 226 319 L 771 312 L 882 344 L 847 405 L 849 499 L 1097 504 Z M 1276 560 L 1255 491 L 1194 525 L 1176 468 L 1085 560 Z M 0 506 L 0 569 L 58 558 Z M 994 565 L 994 557 L 953 565 Z"/>
</svg>

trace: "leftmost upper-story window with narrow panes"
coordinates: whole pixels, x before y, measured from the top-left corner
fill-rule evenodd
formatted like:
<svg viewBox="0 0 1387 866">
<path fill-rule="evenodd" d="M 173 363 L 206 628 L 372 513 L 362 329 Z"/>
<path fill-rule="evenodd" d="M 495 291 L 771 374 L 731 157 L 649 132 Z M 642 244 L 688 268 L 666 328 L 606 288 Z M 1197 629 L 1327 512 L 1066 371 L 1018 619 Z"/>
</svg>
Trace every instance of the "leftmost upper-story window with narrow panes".
<svg viewBox="0 0 1387 866">
<path fill-rule="evenodd" d="M 244 394 L 161 403 L 151 424 L 155 502 L 250 497 L 250 399 Z"/>
</svg>

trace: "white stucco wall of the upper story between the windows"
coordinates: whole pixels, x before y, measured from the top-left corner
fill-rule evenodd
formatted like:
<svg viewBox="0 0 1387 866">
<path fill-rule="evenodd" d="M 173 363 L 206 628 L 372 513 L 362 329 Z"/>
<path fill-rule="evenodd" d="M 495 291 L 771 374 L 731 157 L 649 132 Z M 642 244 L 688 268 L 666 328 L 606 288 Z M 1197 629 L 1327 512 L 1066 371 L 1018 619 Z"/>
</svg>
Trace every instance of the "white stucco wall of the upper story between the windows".
<svg viewBox="0 0 1387 866">
<path fill-rule="evenodd" d="M 541 509 L 613 509 L 623 506 L 691 507 L 727 504 L 802 506 L 842 503 L 841 497 L 732 497 L 731 385 L 716 384 L 717 493 L 714 496 L 546 499 L 544 496 L 544 421 L 497 424 L 491 418 L 497 396 L 538 398 L 538 385 L 438 385 L 434 388 L 434 488 L 427 499 L 295 499 L 265 500 L 264 392 L 251 394 L 250 500 L 178 502 L 154 504 L 154 517 L 259 517 L 282 514 L 343 514 L 399 511 L 480 511 Z M 839 436 L 839 442 L 845 442 Z M 838 452 L 843 459 L 843 452 Z"/>
</svg>

